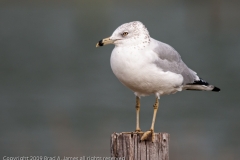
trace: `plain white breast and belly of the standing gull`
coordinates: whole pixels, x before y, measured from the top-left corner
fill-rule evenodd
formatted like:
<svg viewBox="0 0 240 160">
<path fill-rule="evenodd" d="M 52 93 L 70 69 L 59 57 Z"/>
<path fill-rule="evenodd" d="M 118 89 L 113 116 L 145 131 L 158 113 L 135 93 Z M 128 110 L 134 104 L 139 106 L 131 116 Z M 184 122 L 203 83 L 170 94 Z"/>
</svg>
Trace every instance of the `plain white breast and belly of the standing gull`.
<svg viewBox="0 0 240 160">
<path fill-rule="evenodd" d="M 115 47 L 111 54 L 111 68 L 116 77 L 139 96 L 170 94 L 181 90 L 183 77 L 164 72 L 153 62 L 158 58 L 153 52 Z"/>
</svg>

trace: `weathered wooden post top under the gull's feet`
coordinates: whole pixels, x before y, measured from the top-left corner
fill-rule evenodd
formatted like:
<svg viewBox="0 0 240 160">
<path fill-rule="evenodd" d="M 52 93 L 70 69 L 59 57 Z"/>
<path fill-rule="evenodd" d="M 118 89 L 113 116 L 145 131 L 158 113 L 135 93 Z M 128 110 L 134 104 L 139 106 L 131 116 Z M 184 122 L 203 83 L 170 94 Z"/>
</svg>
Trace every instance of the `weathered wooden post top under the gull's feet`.
<svg viewBox="0 0 240 160">
<path fill-rule="evenodd" d="M 119 160 L 169 160 L 168 133 L 155 133 L 154 142 L 151 142 L 151 137 L 140 142 L 141 136 L 136 133 L 113 133 L 111 157 Z"/>
</svg>

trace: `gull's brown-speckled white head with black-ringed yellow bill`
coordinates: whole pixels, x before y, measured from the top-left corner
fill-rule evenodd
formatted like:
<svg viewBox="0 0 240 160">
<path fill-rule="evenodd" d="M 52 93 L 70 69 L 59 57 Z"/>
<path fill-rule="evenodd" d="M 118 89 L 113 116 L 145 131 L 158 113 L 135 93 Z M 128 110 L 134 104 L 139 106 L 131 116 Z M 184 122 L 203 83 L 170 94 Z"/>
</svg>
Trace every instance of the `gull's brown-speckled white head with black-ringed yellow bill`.
<svg viewBox="0 0 240 160">
<path fill-rule="evenodd" d="M 149 43 L 150 35 L 147 28 L 141 22 L 134 21 L 119 26 L 111 37 L 100 40 L 96 47 L 114 44 L 116 46 L 144 48 Z"/>
</svg>

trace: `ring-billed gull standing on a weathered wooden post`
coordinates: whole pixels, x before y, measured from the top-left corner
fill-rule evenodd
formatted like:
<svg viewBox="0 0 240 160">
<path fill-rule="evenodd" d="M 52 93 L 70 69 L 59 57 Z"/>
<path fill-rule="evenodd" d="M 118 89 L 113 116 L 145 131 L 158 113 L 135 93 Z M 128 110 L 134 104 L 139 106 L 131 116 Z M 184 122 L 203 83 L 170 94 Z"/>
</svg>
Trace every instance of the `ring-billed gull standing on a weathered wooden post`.
<svg viewBox="0 0 240 160">
<path fill-rule="evenodd" d="M 135 132 L 141 132 L 140 97 L 156 96 L 151 128 L 141 140 L 152 135 L 154 141 L 154 123 L 160 96 L 182 90 L 220 91 L 188 68 L 174 48 L 151 38 L 147 28 L 139 21 L 119 26 L 111 37 L 100 40 L 96 47 L 107 44 L 115 45 L 110 60 L 113 73 L 136 95 Z"/>
</svg>

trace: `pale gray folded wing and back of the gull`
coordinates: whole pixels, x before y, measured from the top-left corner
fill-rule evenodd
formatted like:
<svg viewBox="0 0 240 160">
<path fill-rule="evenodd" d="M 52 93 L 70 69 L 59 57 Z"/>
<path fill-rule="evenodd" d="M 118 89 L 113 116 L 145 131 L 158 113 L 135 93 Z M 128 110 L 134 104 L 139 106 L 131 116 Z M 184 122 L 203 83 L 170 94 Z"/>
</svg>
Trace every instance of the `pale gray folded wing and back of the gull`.
<svg viewBox="0 0 240 160">
<path fill-rule="evenodd" d="M 193 83 L 198 79 L 197 73 L 187 67 L 182 61 L 178 52 L 166 43 L 159 42 L 155 39 L 155 47 L 153 51 L 158 55 L 159 59 L 154 63 L 163 71 L 170 71 L 183 76 L 183 84 Z"/>
</svg>

